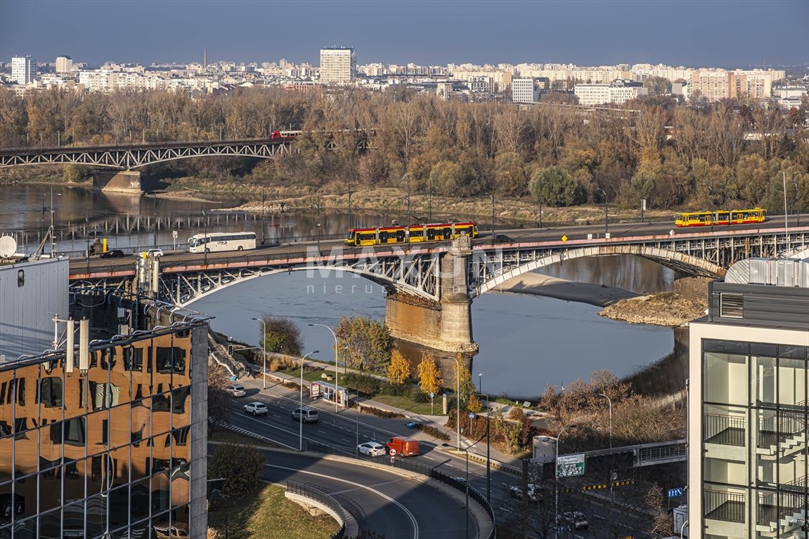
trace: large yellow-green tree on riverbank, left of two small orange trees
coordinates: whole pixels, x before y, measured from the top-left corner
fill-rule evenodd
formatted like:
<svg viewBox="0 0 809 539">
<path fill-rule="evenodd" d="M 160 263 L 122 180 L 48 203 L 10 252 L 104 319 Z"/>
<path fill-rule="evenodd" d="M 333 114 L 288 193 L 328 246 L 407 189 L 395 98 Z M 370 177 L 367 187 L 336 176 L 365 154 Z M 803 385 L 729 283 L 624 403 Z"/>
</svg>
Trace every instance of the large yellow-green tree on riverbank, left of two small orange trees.
<svg viewBox="0 0 809 539">
<path fill-rule="evenodd" d="M 391 361 L 393 339 L 383 320 L 362 316 L 340 319 L 334 331 L 343 346 L 339 356 L 351 368 L 384 373 Z"/>
</svg>

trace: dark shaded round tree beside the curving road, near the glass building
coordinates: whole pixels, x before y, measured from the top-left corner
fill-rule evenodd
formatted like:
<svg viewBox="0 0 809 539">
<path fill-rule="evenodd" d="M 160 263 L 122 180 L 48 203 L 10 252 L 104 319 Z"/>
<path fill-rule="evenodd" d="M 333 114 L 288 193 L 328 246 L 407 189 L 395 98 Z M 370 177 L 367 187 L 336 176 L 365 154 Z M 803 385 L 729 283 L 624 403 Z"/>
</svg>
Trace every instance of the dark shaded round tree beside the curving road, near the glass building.
<svg viewBox="0 0 809 539">
<path fill-rule="evenodd" d="M 224 478 L 222 494 L 240 499 L 258 491 L 267 459 L 248 445 L 222 444 L 208 460 L 208 477 Z"/>
</svg>

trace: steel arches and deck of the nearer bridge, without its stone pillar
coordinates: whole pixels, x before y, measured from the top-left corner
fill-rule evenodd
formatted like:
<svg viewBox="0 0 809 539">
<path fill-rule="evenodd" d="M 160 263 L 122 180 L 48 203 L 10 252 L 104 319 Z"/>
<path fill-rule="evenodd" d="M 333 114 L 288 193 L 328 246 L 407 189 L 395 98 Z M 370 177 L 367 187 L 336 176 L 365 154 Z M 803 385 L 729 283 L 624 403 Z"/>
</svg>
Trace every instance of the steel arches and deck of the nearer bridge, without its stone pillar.
<svg viewBox="0 0 809 539">
<path fill-rule="evenodd" d="M 670 267 L 684 276 L 723 276 L 726 267 L 739 259 L 775 257 L 794 248 L 809 246 L 809 228 L 740 230 L 721 235 L 659 235 L 634 238 L 581 239 L 568 242 L 532 242 L 476 245 L 465 257 L 464 267 L 451 271 L 467 272 L 469 297 L 477 297 L 498 284 L 525 272 L 588 256 L 637 255 Z M 222 288 L 260 276 L 293 272 L 352 272 L 382 285 L 389 291 L 421 298 L 426 305 L 441 299 L 442 281 L 447 268 L 441 259 L 449 247 L 395 246 L 384 249 L 345 249 L 332 247 L 319 251 L 307 246 L 305 252 L 289 255 L 245 255 L 166 265 L 160 268 L 150 289 L 162 301 L 187 306 Z M 141 272 L 142 273 L 142 272 Z M 78 274 L 72 279 L 83 286 L 114 286 L 133 289 L 136 272 Z"/>
</svg>

